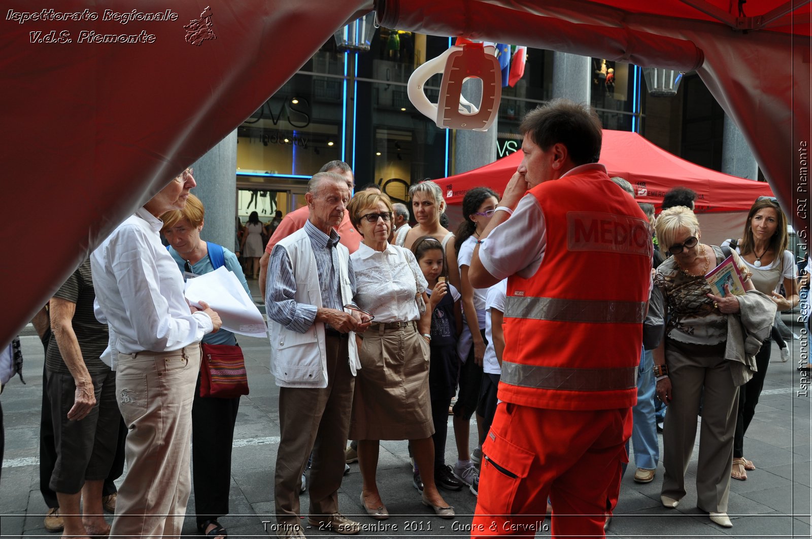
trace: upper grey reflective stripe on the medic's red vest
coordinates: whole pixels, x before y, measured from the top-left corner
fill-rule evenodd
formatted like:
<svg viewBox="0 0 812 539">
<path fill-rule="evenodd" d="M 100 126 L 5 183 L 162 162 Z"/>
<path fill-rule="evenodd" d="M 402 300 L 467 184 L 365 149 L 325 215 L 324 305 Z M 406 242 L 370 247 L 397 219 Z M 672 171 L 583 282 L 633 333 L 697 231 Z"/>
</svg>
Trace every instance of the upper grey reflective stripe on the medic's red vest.
<svg viewBox="0 0 812 539">
<path fill-rule="evenodd" d="M 592 324 L 641 324 L 646 302 L 563 300 L 508 295 L 505 317 Z"/>
</svg>

